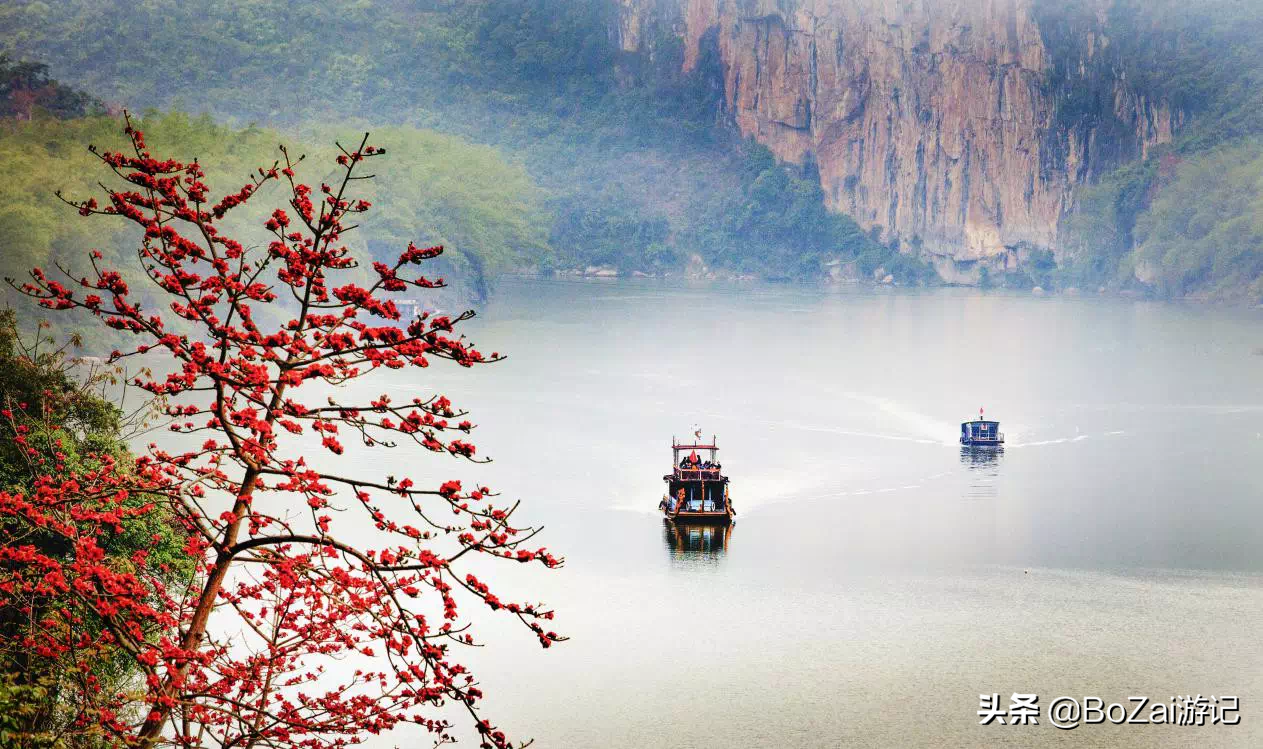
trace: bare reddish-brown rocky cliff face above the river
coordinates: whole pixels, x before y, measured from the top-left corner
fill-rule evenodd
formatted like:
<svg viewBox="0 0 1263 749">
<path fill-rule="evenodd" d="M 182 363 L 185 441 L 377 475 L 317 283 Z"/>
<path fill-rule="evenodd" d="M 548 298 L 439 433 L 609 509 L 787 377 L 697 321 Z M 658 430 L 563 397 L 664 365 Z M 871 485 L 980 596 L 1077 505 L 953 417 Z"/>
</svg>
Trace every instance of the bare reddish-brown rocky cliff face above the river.
<svg viewBox="0 0 1263 749">
<path fill-rule="evenodd" d="M 619 33 L 635 52 L 648 24 L 673 29 L 686 68 L 717 61 L 743 134 L 969 282 L 1056 248 L 1074 186 L 1181 123 L 1111 77 L 1099 1 L 1041 25 L 1038 0 L 620 0 Z M 1066 111 L 1084 86 L 1094 106 Z"/>
</svg>

